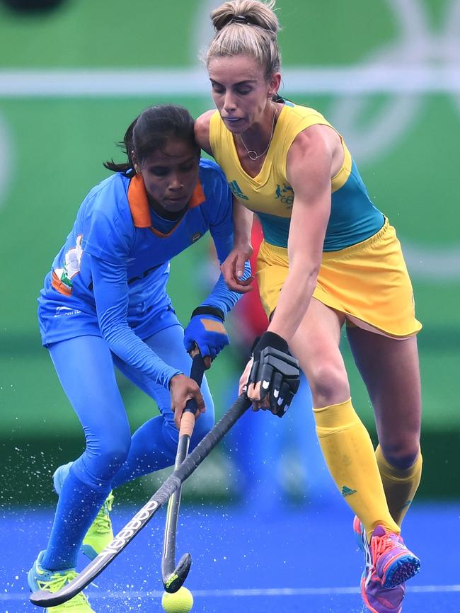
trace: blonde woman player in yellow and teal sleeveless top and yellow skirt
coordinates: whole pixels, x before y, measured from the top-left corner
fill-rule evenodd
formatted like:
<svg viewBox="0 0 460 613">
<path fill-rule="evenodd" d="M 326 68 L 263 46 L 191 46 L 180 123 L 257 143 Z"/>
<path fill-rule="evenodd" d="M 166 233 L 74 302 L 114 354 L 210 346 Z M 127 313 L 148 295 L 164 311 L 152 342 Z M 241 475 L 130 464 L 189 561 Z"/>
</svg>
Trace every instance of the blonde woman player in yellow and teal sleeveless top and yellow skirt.
<svg viewBox="0 0 460 613">
<path fill-rule="evenodd" d="M 217 110 L 195 123 L 199 144 L 248 211 L 238 227 L 255 212 L 265 235 L 257 276 L 270 326 L 241 385 L 255 408 L 276 411 L 293 390 L 280 374 L 270 380 L 263 350 L 271 345 L 289 361 L 289 346 L 298 358 L 330 474 L 356 515 L 364 602 L 374 613 L 398 613 L 404 582 L 420 567 L 403 544 L 401 521 L 422 465 L 421 325 L 395 231 L 369 200 L 343 137 L 316 110 L 277 95 L 274 4 L 233 0 L 212 11 L 206 62 Z M 231 289 L 246 291 L 241 260 L 229 258 L 223 270 Z M 374 406 L 375 453 L 350 399 L 339 350 L 344 324 Z"/>
</svg>

